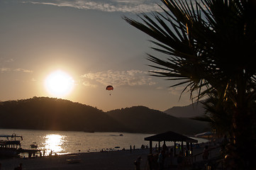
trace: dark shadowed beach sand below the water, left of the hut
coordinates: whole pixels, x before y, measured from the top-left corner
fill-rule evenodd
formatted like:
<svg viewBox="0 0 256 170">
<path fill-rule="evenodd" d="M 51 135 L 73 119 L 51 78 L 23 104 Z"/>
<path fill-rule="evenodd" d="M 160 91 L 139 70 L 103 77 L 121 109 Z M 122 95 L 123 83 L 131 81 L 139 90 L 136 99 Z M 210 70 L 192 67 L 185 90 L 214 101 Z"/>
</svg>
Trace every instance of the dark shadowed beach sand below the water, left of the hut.
<svg viewBox="0 0 256 170">
<path fill-rule="evenodd" d="M 133 162 L 140 156 L 142 157 L 141 169 L 145 169 L 147 155 L 149 149 L 135 149 L 130 153 L 127 151 L 115 152 L 94 152 L 67 154 L 52 157 L 37 157 L 30 159 L 15 158 L 15 159 L 0 159 L 1 170 L 13 170 L 18 164 L 23 164 L 23 170 L 38 169 L 135 169 Z M 74 161 L 70 164 L 67 160 Z M 77 163 L 75 163 L 77 162 Z"/>
</svg>

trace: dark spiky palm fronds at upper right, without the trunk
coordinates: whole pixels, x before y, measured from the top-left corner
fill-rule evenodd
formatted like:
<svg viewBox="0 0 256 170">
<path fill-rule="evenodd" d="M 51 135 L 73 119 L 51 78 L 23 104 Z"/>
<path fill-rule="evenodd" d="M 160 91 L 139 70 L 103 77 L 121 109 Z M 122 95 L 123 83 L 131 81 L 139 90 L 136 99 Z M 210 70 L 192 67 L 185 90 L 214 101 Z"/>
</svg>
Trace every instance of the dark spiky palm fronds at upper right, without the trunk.
<svg viewBox="0 0 256 170">
<path fill-rule="evenodd" d="M 124 17 L 153 38 L 153 50 L 167 55 L 167 59 L 148 55 L 154 63 L 149 66 L 160 70 L 152 76 L 177 81 L 177 86 L 189 84 L 184 91 L 197 91 L 197 100 L 214 90 L 220 95 L 226 91 L 235 100 L 232 89 L 240 81 L 238 74 L 247 84 L 255 84 L 256 67 L 250 56 L 256 57 L 256 20 L 246 12 L 253 11 L 248 1 L 161 1 L 163 12 L 141 13 L 142 23 Z M 245 60 L 236 60 L 240 56 Z"/>
</svg>

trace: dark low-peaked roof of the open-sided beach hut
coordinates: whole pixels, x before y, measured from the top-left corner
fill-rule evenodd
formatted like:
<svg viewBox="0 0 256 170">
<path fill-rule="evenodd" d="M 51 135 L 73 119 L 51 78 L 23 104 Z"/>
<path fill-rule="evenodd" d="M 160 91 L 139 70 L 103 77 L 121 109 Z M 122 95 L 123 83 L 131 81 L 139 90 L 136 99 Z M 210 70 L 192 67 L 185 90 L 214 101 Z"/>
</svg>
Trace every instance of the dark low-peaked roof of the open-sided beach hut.
<svg viewBox="0 0 256 170">
<path fill-rule="evenodd" d="M 190 137 L 180 135 L 179 133 L 176 132 L 163 132 L 157 135 L 152 135 L 150 137 L 145 137 L 144 140 L 147 141 L 157 141 L 157 142 L 162 142 L 162 141 L 169 141 L 169 142 L 191 142 L 191 143 L 197 143 L 197 140 L 194 140 Z"/>
</svg>

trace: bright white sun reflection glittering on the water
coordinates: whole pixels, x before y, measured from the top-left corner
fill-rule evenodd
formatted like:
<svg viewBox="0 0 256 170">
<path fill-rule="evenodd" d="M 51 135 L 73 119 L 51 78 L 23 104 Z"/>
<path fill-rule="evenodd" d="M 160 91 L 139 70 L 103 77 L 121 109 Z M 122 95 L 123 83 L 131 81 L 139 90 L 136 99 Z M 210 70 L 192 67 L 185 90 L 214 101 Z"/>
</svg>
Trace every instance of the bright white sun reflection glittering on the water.
<svg viewBox="0 0 256 170">
<path fill-rule="evenodd" d="M 65 136 L 49 134 L 45 136 L 45 147 L 41 148 L 45 150 L 45 155 L 52 154 L 60 154 L 60 152 L 64 151 L 62 144 L 65 142 Z"/>
</svg>

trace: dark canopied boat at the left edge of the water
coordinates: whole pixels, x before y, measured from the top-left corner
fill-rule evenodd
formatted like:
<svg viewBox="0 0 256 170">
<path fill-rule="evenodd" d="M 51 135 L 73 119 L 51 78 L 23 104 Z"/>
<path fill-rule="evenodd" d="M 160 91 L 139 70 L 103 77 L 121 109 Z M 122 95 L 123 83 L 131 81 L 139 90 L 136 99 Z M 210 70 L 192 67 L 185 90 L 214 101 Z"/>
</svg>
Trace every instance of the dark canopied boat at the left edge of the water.
<svg viewBox="0 0 256 170">
<path fill-rule="evenodd" d="M 18 157 L 21 153 L 22 136 L 0 135 L 0 157 Z"/>
</svg>

